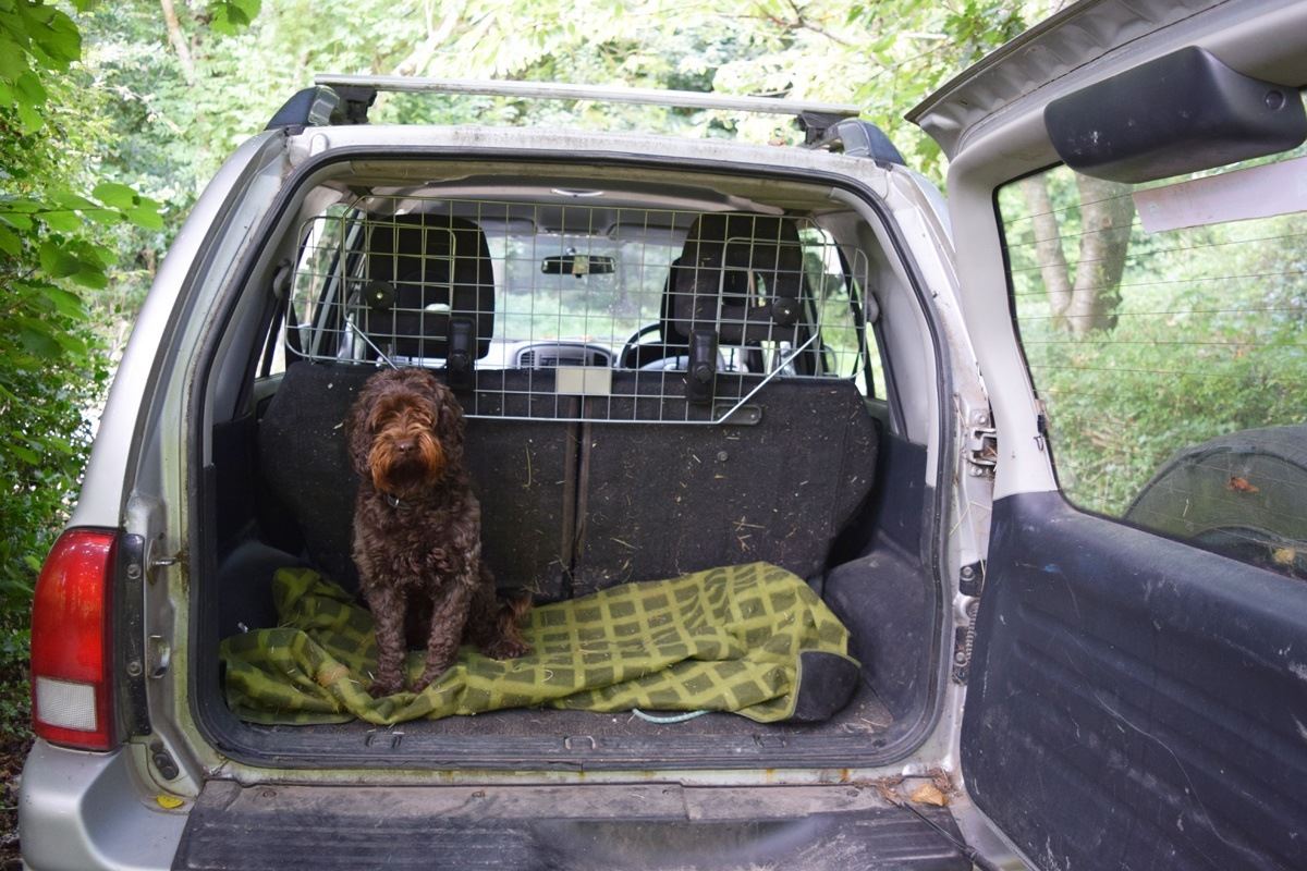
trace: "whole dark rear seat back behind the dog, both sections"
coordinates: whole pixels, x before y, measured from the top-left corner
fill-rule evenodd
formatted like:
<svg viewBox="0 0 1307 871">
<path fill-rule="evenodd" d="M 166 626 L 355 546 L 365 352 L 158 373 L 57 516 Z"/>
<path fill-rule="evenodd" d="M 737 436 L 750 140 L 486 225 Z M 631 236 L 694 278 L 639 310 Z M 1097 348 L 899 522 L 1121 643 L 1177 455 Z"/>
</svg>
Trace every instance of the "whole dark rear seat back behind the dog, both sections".
<svg viewBox="0 0 1307 871">
<path fill-rule="evenodd" d="M 259 427 L 268 509 L 288 512 L 308 559 L 349 589 L 358 482 L 342 422 L 375 371 L 293 366 Z M 850 381 L 775 379 L 736 413 L 757 415 L 749 426 L 576 424 L 552 419 L 575 417 L 578 401 L 552 396 L 552 377 L 478 372 L 477 398 L 467 400 L 469 411 L 495 415 L 468 419 L 467 458 L 482 552 L 502 588 L 554 601 L 754 560 L 813 576 L 870 492 L 877 432 Z M 629 405 L 638 419 L 656 404 L 634 397 L 659 389 L 614 373 L 618 396 L 587 402 L 614 415 Z"/>
</svg>

